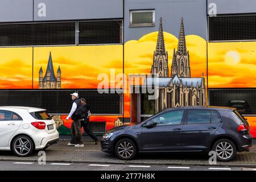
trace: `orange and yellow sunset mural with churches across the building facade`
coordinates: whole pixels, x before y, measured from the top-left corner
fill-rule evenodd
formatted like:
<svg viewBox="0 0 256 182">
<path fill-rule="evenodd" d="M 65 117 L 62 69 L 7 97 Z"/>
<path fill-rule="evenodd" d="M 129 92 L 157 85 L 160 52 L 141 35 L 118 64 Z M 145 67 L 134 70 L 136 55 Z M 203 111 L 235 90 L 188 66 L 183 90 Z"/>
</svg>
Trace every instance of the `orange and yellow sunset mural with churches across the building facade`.
<svg viewBox="0 0 256 182">
<path fill-rule="evenodd" d="M 159 74 L 162 87 L 159 88 L 156 111 L 173 106 L 205 105 L 207 74 L 204 77 L 202 73 L 207 73 L 207 42 L 197 35 L 185 35 L 184 22 L 177 23 L 179 38 L 164 32 L 161 22 L 158 31 L 143 35 L 139 40 L 127 41 L 124 61 L 122 45 L 0 48 L 0 88 L 44 89 L 43 78 L 47 77 L 49 65 L 49 77 L 55 74 L 56 83 L 58 69 L 60 73 L 60 87 L 53 79 L 52 88 L 97 89 L 101 82 L 97 79 L 100 73 L 110 77 L 110 69 L 115 69 L 117 75 L 124 67 L 126 75 Z M 209 88 L 256 88 L 255 57 L 255 42 L 208 43 Z M 169 61 L 171 64 L 168 65 Z M 51 88 L 51 84 L 49 86 Z M 106 130 L 121 125 L 120 118 L 131 116 L 129 94 L 124 94 L 123 101 L 123 115 L 92 115 L 90 121 L 105 121 Z M 65 121 L 65 117 L 54 116 L 61 134 L 70 131 L 72 121 Z M 255 137 L 256 119 L 246 118 Z M 129 119 L 126 120 L 128 123 Z"/>
</svg>

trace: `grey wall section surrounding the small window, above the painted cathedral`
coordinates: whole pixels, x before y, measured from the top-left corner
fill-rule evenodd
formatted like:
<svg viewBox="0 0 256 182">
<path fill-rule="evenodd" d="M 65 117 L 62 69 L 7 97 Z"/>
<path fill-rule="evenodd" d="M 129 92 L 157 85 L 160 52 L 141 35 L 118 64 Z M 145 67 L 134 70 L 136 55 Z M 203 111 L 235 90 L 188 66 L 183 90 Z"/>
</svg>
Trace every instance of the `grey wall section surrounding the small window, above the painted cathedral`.
<svg viewBox="0 0 256 182">
<path fill-rule="evenodd" d="M 155 27 L 129 27 L 130 10 L 140 9 L 155 9 Z M 125 42 L 158 31 L 160 17 L 163 18 L 163 30 L 176 37 L 183 17 L 186 35 L 207 38 L 206 0 L 125 0 Z"/>
</svg>

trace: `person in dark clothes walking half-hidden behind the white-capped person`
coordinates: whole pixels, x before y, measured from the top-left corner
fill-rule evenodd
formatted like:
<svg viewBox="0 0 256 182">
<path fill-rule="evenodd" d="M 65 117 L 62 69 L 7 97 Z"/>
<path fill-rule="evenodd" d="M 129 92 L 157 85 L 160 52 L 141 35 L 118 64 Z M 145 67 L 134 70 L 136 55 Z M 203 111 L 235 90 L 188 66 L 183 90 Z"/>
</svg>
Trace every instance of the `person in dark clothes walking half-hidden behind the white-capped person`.
<svg viewBox="0 0 256 182">
<path fill-rule="evenodd" d="M 84 132 L 89 135 L 90 138 L 92 138 L 95 141 L 95 144 L 98 143 L 98 138 L 96 135 L 90 131 L 89 129 L 89 118 L 90 118 L 90 106 L 86 104 L 85 98 L 81 98 L 81 104 L 84 107 L 84 118 L 83 121 L 81 122 L 81 128 L 84 127 Z"/>
</svg>

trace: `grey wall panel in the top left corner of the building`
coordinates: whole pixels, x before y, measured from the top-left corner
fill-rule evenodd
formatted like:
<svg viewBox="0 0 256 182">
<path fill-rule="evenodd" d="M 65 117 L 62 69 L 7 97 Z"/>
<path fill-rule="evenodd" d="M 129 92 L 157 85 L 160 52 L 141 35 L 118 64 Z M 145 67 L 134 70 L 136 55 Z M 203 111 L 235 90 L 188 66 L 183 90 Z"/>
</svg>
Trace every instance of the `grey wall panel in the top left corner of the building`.
<svg viewBox="0 0 256 182">
<path fill-rule="evenodd" d="M 25 22 L 33 20 L 33 0 L 1 0 L 0 22 Z"/>
</svg>

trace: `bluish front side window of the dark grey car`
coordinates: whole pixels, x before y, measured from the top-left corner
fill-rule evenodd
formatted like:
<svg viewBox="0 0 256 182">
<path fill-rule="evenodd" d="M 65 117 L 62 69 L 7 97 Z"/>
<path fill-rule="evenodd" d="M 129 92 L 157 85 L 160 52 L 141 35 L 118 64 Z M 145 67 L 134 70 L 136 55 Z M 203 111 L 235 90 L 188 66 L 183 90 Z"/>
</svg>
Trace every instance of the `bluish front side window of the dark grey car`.
<svg viewBox="0 0 256 182">
<path fill-rule="evenodd" d="M 160 114 L 155 118 L 152 118 L 152 121 L 157 123 L 157 126 L 162 125 L 180 125 L 182 121 L 184 110 L 174 110 L 168 111 L 166 113 Z"/>
</svg>

